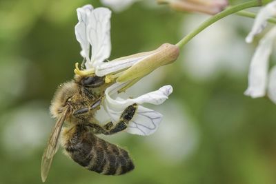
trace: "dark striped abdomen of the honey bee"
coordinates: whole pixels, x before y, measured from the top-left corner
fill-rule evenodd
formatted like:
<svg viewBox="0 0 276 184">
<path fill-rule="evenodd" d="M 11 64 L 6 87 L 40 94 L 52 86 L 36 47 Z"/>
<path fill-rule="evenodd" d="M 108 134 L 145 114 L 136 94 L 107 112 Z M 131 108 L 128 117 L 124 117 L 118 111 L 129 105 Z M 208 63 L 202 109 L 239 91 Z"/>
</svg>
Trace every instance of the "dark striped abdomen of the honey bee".
<svg viewBox="0 0 276 184">
<path fill-rule="evenodd" d="M 70 136 L 63 135 L 68 137 L 63 146 L 69 156 L 86 169 L 106 175 L 125 174 L 134 169 L 126 150 L 100 139 L 83 125 L 76 125 L 68 133 Z"/>
</svg>

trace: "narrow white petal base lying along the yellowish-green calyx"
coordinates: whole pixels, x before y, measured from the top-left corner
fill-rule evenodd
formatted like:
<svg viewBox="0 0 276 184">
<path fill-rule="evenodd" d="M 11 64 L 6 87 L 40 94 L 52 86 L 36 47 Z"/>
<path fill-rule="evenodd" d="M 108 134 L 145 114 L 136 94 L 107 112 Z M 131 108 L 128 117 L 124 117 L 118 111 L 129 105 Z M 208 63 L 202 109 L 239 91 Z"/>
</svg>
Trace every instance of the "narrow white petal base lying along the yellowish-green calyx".
<svg viewBox="0 0 276 184">
<path fill-rule="evenodd" d="M 96 69 L 96 74 L 97 74 L 97 76 L 104 76 L 106 74 L 118 72 L 120 70 L 129 68 L 130 66 L 134 65 L 135 63 L 138 63 L 139 61 L 141 61 L 144 58 L 146 58 L 146 56 L 134 57 L 134 58 L 128 58 L 128 59 L 123 59 L 123 60 L 116 60 L 116 61 L 109 61 L 106 63 L 102 63 L 101 65 L 98 65 L 98 67 Z"/>
</svg>

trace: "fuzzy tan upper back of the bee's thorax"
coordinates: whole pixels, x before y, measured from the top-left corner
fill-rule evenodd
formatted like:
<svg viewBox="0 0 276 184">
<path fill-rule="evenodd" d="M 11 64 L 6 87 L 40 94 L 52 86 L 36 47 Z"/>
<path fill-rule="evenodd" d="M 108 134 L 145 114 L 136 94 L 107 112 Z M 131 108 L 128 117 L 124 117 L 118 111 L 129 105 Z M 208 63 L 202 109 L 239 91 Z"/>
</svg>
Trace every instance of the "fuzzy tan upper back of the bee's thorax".
<svg viewBox="0 0 276 184">
<path fill-rule="evenodd" d="M 63 112 L 71 97 L 79 92 L 78 88 L 77 83 L 74 81 L 63 83 L 59 86 L 50 105 L 50 113 L 54 118 L 57 118 Z"/>
</svg>

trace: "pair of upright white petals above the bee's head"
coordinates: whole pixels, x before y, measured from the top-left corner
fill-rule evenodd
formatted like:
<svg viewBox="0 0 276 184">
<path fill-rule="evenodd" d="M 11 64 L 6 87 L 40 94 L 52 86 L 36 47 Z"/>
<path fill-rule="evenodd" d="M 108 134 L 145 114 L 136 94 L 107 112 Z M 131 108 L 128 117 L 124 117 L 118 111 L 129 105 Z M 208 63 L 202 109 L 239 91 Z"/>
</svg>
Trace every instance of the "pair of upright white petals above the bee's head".
<svg viewBox="0 0 276 184">
<path fill-rule="evenodd" d="M 77 17 L 79 23 L 75 26 L 75 33 L 81 44 L 81 56 L 86 59 L 87 69 L 97 68 L 97 65 L 110 57 L 111 12 L 108 8 L 94 10 L 91 5 L 86 5 L 77 8 Z"/>
</svg>

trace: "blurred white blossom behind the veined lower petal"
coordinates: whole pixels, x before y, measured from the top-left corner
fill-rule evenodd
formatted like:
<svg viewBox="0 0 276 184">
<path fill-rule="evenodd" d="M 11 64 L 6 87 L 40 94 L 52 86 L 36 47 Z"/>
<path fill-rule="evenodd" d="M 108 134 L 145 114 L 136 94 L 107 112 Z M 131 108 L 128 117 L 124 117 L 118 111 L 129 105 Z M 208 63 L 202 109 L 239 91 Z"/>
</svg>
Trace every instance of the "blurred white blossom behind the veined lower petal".
<svg viewBox="0 0 276 184">
<path fill-rule="evenodd" d="M 170 164 L 188 159 L 199 144 L 195 122 L 189 118 L 183 104 L 180 105 L 177 101 L 157 108 L 164 114 L 164 123 L 160 125 L 158 132 L 146 139 L 146 143 Z"/>
</svg>

